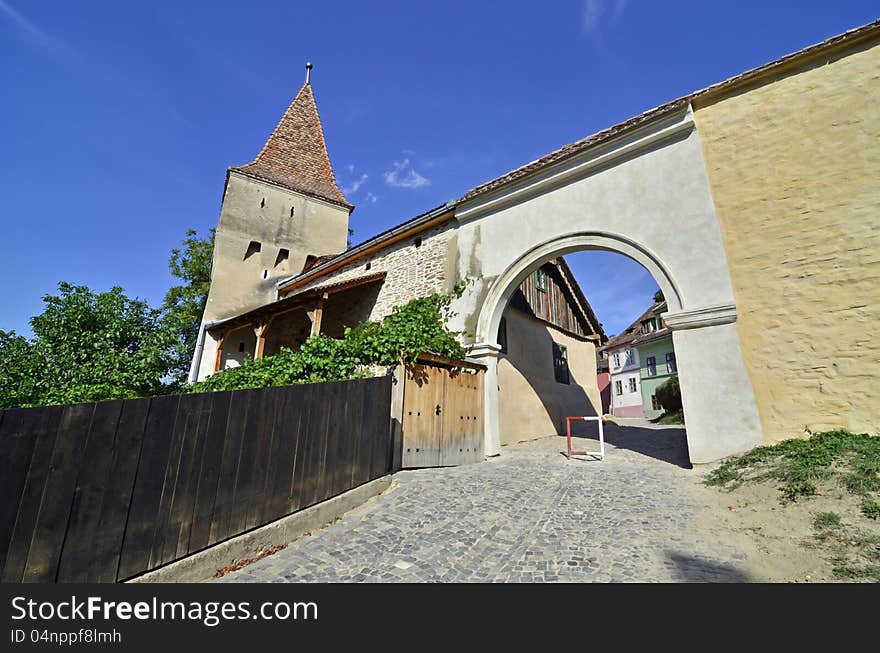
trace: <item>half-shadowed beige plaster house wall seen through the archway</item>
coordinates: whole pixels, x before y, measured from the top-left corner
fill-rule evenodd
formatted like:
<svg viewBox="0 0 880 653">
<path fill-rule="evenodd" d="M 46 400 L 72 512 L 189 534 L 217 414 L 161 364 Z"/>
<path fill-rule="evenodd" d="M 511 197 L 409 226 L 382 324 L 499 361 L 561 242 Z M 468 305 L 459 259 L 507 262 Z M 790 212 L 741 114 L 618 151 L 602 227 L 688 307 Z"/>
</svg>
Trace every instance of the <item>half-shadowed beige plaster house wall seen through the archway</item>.
<svg viewBox="0 0 880 653">
<path fill-rule="evenodd" d="M 568 415 L 601 409 L 596 348 L 522 311 L 507 307 L 507 353 L 498 360 L 498 417 L 502 445 L 565 433 Z M 568 350 L 571 382 L 553 374 L 553 343 Z"/>
</svg>

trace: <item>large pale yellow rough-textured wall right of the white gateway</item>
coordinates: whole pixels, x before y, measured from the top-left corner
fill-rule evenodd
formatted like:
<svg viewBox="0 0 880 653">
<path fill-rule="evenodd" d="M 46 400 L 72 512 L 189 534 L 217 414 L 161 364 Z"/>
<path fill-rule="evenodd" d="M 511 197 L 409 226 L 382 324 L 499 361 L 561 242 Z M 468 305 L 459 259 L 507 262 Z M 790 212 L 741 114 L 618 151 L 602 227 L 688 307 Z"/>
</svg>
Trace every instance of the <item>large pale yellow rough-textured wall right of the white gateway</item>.
<svg viewBox="0 0 880 653">
<path fill-rule="evenodd" d="M 765 440 L 877 432 L 880 41 L 694 109 Z"/>
</svg>

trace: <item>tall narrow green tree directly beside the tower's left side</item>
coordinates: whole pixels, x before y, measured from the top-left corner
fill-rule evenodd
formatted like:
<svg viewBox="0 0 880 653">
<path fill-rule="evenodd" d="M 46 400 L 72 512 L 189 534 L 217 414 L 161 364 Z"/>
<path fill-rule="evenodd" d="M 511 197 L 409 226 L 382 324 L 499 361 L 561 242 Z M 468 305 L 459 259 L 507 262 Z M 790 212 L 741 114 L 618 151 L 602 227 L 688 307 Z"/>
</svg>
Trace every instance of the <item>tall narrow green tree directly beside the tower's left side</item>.
<svg viewBox="0 0 880 653">
<path fill-rule="evenodd" d="M 181 248 L 171 250 L 168 268 L 184 283 L 173 286 L 162 302 L 162 324 L 172 341 L 167 379 L 180 387 L 187 379 L 196 347 L 199 324 L 205 312 L 211 287 L 211 264 L 214 254 L 214 229 L 207 238 L 199 238 L 195 229 L 186 232 Z"/>
</svg>

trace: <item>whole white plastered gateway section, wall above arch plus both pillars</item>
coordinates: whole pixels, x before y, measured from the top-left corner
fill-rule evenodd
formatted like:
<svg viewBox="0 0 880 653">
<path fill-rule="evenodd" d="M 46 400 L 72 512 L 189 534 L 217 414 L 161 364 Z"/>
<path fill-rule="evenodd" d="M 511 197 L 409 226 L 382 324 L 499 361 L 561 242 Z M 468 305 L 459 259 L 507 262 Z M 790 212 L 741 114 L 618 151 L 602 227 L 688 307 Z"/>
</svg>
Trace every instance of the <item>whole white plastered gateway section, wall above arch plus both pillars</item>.
<svg viewBox="0 0 880 653">
<path fill-rule="evenodd" d="M 707 462 L 760 444 L 754 394 L 735 332 L 731 340 L 723 329 L 700 328 L 710 323 L 707 316 L 735 319 L 735 308 L 689 110 L 478 197 L 459 207 L 456 216 L 459 252 L 465 246 L 473 251 L 459 256 L 458 275 L 477 281 L 454 305 L 459 317 L 453 328 L 475 333 L 474 355 L 491 366 L 494 354 L 486 345 L 495 342 L 501 311 L 512 289 L 541 263 L 582 249 L 618 251 L 653 274 L 666 296 L 667 316 L 682 316 L 678 327 L 670 327 L 689 329 L 676 338 L 675 349 L 688 395 L 685 419 L 692 460 Z M 702 368 L 728 364 L 736 369 L 717 374 L 715 381 L 717 392 L 742 409 L 731 416 L 716 410 L 716 390 L 684 381 L 689 375 L 705 377 Z M 640 393 L 635 396 L 641 403 Z M 485 450 L 494 454 L 499 451 L 498 434 L 492 432 L 497 416 L 490 413 L 497 411 L 497 393 L 491 387 L 485 404 Z"/>
</svg>

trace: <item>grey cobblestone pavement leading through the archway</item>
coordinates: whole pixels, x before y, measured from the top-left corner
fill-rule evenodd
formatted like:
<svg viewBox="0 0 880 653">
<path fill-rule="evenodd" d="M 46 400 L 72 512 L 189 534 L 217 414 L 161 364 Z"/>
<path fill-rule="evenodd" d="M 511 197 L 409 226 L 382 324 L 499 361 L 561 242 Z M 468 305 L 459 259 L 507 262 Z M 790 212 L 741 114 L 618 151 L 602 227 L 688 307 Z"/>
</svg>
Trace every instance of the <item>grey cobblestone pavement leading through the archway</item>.
<svg viewBox="0 0 880 653">
<path fill-rule="evenodd" d="M 552 437 L 399 472 L 342 520 L 219 582 L 760 580 L 706 519 L 711 490 L 686 468 L 681 429 L 609 424 L 606 441 L 601 462 L 567 460 Z"/>
</svg>

